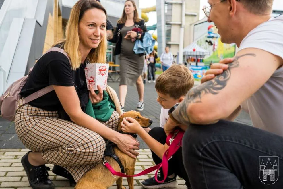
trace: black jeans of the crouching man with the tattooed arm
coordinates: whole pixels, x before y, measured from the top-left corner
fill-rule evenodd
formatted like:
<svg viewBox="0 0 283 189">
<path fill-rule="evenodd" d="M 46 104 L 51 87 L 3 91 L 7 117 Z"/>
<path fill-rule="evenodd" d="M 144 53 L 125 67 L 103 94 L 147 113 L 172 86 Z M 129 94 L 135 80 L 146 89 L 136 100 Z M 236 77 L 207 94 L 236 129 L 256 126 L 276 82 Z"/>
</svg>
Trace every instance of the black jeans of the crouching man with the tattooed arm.
<svg viewBox="0 0 283 189">
<path fill-rule="evenodd" d="M 211 125 L 191 124 L 184 134 L 182 150 L 183 163 L 193 189 L 283 188 L 281 136 L 224 120 Z M 271 166 L 275 167 L 270 168 L 266 157 L 276 156 L 279 161 L 274 163 L 274 158 L 271 158 Z M 263 170 L 260 170 L 260 165 L 265 171 L 278 168 L 275 181 L 279 176 L 274 184 L 261 182 Z M 268 181 L 270 175 L 269 172 Z"/>
</svg>

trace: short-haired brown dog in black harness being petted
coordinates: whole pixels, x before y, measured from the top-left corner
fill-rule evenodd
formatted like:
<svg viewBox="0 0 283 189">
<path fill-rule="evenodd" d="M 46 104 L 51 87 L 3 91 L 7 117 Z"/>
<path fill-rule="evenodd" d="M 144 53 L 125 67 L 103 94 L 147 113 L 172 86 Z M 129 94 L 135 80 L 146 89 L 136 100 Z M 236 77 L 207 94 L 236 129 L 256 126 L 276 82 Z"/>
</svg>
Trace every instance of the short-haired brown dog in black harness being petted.
<svg viewBox="0 0 283 189">
<path fill-rule="evenodd" d="M 121 130 L 121 122 L 124 117 L 132 117 L 139 124 L 147 128 L 151 125 L 152 120 L 142 117 L 142 115 L 139 112 L 136 111 L 128 111 L 125 112 L 121 117 L 118 125 L 118 132 L 122 132 Z M 115 154 L 119 157 L 125 172 L 127 175 L 134 175 L 135 172 L 135 162 L 136 159 L 131 158 L 127 154 L 123 153 L 117 146 L 113 148 Z M 117 161 L 113 159 L 112 157 L 105 156 L 105 159 L 109 162 L 111 167 L 117 172 L 121 172 L 121 168 Z M 106 189 L 113 185 L 113 183 L 116 181 L 117 189 L 125 189 L 125 187 L 122 185 L 122 177 L 116 177 L 114 178 L 111 174 L 111 172 L 103 165 L 102 161 L 98 163 L 94 168 L 86 172 L 82 178 L 77 182 L 75 189 Z M 133 177 L 127 178 L 129 189 L 134 188 L 134 179 Z"/>
</svg>

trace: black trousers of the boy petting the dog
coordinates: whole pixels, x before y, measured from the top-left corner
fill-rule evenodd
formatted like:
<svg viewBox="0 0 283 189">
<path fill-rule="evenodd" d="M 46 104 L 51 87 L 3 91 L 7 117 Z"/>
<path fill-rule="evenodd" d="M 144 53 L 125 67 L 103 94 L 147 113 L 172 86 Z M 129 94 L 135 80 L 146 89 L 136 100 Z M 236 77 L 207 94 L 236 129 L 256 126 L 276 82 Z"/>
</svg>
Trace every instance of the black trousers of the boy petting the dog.
<svg viewBox="0 0 283 189">
<path fill-rule="evenodd" d="M 162 127 L 154 127 L 148 132 L 148 134 L 161 144 L 166 143 L 167 136 Z M 151 151 L 151 153 L 154 163 L 156 165 L 161 163 L 162 160 L 153 151 Z M 162 172 L 162 169 L 160 171 Z M 188 188 L 190 188 L 189 178 L 183 165 L 181 148 L 179 148 L 178 151 L 173 155 L 173 157 L 168 161 L 168 175 L 172 175 L 173 173 L 183 178 Z"/>
</svg>

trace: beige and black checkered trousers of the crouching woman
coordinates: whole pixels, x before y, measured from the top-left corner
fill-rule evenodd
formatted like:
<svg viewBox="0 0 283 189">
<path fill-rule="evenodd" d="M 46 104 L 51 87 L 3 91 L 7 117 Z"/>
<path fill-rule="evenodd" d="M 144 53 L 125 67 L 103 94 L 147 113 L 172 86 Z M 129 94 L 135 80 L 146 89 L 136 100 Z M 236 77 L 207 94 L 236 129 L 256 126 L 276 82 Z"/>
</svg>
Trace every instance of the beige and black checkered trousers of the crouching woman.
<svg viewBox="0 0 283 189">
<path fill-rule="evenodd" d="M 117 130 L 119 114 L 114 111 L 107 127 Z M 47 163 L 67 169 L 77 182 L 102 159 L 106 142 L 96 132 L 58 118 L 57 111 L 23 105 L 16 113 L 16 132 L 33 152 L 41 152 Z"/>
</svg>

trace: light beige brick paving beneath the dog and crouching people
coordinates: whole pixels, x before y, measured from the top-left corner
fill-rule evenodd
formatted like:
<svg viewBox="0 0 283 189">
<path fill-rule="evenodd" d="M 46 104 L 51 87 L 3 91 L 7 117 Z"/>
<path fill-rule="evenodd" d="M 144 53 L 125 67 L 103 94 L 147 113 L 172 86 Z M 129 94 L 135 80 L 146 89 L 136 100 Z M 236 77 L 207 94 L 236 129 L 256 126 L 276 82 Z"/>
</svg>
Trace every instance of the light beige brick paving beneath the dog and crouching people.
<svg viewBox="0 0 283 189">
<path fill-rule="evenodd" d="M 0 188 L 5 189 L 31 189 L 29 187 L 28 178 L 26 172 L 21 164 L 21 158 L 27 153 L 28 149 L 0 149 Z M 135 166 L 135 174 L 142 170 L 149 168 L 154 165 L 152 160 L 151 152 L 149 149 L 140 149 L 139 157 L 137 158 Z M 53 168 L 52 164 L 47 164 L 47 167 Z M 63 177 L 49 172 L 49 178 L 53 180 L 55 189 L 73 189 L 74 186 L 70 186 L 69 181 Z M 151 172 L 147 175 L 139 176 L 134 178 L 135 189 L 142 189 L 139 185 L 144 179 L 154 176 L 155 172 Z M 178 178 L 179 189 L 187 188 L 185 181 Z M 126 178 L 123 178 L 123 186 L 127 186 Z M 128 188 L 128 187 L 126 187 Z M 86 188 L 87 189 L 87 188 Z M 116 183 L 109 189 L 116 189 Z"/>
</svg>

